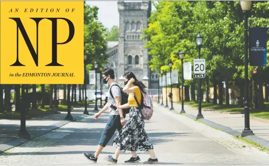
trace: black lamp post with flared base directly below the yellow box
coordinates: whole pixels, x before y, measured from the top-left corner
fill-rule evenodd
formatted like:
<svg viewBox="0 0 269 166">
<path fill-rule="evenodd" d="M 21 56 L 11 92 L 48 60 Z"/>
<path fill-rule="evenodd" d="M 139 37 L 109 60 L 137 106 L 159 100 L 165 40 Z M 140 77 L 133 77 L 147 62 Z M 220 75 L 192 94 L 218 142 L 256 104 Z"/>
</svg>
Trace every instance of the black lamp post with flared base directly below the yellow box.
<svg viewBox="0 0 269 166">
<path fill-rule="evenodd" d="M 26 102 L 27 97 L 25 93 L 25 86 L 21 85 L 21 111 L 20 111 L 20 130 L 18 132 L 19 138 L 30 139 L 31 136 L 29 132 L 26 130 L 26 107 L 28 107 L 28 103 Z"/>
</svg>

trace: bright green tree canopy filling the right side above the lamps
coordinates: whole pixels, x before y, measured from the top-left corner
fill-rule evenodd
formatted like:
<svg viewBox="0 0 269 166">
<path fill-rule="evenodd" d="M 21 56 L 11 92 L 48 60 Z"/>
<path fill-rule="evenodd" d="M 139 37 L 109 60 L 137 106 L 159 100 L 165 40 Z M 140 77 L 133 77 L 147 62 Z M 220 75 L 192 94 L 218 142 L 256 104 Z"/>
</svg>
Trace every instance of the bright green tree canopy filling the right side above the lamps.
<svg viewBox="0 0 269 166">
<path fill-rule="evenodd" d="M 181 70 L 179 52 L 186 53 L 184 62 L 198 58 L 195 36 L 204 37 L 201 58 L 206 59 L 206 77 L 211 83 L 242 82 L 244 78 L 244 22 L 239 1 L 160 1 L 149 18 L 149 27 L 143 31 L 145 47 L 150 49 L 153 70 L 167 70 L 168 61 Z M 253 1 L 249 27 L 269 27 L 269 2 Z M 269 42 L 267 42 L 267 49 Z M 267 66 L 249 66 L 249 79 L 258 73 L 259 82 L 269 82 L 269 53 Z M 261 68 L 261 69 L 258 69 Z M 253 72 L 253 71 L 257 72 Z M 266 77 L 265 77 L 266 76 Z M 186 81 L 188 85 L 195 80 Z M 212 84 L 211 84 L 212 85 Z"/>
</svg>

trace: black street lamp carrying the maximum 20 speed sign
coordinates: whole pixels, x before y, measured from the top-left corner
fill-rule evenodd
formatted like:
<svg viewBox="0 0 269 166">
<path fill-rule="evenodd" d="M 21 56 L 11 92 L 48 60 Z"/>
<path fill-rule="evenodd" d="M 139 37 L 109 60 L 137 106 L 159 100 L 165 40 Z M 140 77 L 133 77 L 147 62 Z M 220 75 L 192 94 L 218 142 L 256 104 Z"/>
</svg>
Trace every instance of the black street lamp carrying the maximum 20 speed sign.
<svg viewBox="0 0 269 166">
<path fill-rule="evenodd" d="M 203 44 L 203 37 L 200 35 L 200 33 L 195 37 L 196 44 L 198 46 L 199 54 L 198 58 L 201 57 L 201 46 Z M 198 78 L 198 115 L 196 116 L 196 119 L 204 118 L 202 114 L 202 100 L 201 100 L 201 82 L 200 78 Z"/>
</svg>

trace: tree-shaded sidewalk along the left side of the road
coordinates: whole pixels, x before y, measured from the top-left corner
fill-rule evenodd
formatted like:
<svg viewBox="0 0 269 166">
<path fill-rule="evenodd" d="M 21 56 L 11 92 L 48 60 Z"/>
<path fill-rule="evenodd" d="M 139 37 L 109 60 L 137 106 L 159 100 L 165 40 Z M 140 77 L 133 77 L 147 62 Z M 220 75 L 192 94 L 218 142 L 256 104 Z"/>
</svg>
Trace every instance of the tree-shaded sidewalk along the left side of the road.
<svg viewBox="0 0 269 166">
<path fill-rule="evenodd" d="M 92 106 L 88 107 L 90 107 L 88 111 L 92 110 Z M 85 116 L 83 111 L 84 108 L 74 108 L 74 110 L 71 110 L 74 121 Z M 89 113 L 93 112 L 89 111 Z M 60 114 L 34 117 L 26 120 L 26 129 L 30 133 L 31 139 L 68 124 L 70 121 L 64 120 L 66 115 L 67 111 L 61 111 Z M 20 130 L 20 120 L 0 120 L 0 129 L 0 153 L 29 141 L 28 139 L 17 138 L 17 133 Z"/>
</svg>

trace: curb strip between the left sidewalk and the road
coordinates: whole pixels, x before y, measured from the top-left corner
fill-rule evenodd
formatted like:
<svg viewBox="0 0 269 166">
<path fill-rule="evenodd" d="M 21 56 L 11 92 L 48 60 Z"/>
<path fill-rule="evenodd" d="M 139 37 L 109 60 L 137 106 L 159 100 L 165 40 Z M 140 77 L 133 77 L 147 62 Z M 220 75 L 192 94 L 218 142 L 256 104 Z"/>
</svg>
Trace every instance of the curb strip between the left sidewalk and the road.
<svg viewBox="0 0 269 166">
<path fill-rule="evenodd" d="M 17 147 L 17 146 L 19 146 L 21 144 L 24 144 L 24 143 L 28 142 L 29 140 L 32 140 L 32 139 L 37 138 L 37 137 L 39 137 L 41 135 L 44 135 L 44 134 L 46 134 L 48 132 L 51 132 L 53 130 L 56 130 L 56 129 L 58 129 L 58 128 L 66 125 L 66 124 L 68 124 L 70 122 L 81 120 L 82 118 L 87 117 L 87 116 L 88 115 L 82 114 L 82 115 L 74 118 L 73 121 L 63 120 L 61 122 L 57 122 L 57 123 L 52 124 L 50 126 L 46 126 L 45 129 L 47 129 L 47 130 L 38 130 L 38 132 L 37 132 L 38 134 L 36 134 L 37 136 L 31 137 L 31 139 L 16 138 L 15 140 L 11 140 L 11 141 L 5 142 L 5 143 L 3 143 L 3 144 L 0 145 L 0 154 L 3 153 L 3 152 L 5 152 L 6 150 L 9 150 L 9 149 L 14 148 L 14 147 Z"/>
</svg>

